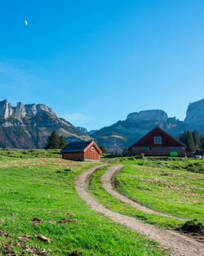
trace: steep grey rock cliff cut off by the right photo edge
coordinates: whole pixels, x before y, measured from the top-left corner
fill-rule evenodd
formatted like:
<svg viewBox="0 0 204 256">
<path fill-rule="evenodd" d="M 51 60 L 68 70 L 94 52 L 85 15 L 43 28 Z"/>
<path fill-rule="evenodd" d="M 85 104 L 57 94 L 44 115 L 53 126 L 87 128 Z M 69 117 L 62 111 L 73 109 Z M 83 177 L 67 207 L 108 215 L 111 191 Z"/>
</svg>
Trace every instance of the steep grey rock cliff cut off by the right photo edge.
<svg viewBox="0 0 204 256">
<path fill-rule="evenodd" d="M 188 105 L 184 123 L 204 125 L 204 99 Z"/>
</svg>

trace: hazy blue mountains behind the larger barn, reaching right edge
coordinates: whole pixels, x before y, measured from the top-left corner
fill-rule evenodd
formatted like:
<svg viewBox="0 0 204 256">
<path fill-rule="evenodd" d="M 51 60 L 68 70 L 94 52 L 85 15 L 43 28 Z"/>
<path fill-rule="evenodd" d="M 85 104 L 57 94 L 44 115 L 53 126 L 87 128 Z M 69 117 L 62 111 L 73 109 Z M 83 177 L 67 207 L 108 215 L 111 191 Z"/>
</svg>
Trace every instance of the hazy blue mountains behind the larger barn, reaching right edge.
<svg viewBox="0 0 204 256">
<path fill-rule="evenodd" d="M 91 134 L 98 145 L 103 144 L 109 151 L 122 150 L 131 146 L 156 125 L 162 127 L 174 137 L 186 129 L 197 129 L 204 134 L 204 99 L 188 106 L 185 121 L 169 118 L 163 110 L 144 110 L 127 115 L 126 120 L 118 121 L 109 127 L 101 128 Z"/>
</svg>

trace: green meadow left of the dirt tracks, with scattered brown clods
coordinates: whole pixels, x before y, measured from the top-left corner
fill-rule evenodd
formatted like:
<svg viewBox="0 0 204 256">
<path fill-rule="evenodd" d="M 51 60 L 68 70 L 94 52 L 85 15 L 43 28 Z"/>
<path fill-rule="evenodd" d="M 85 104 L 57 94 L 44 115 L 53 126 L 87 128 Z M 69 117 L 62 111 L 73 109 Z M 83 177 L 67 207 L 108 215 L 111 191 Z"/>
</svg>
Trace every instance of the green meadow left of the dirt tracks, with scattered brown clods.
<svg viewBox="0 0 204 256">
<path fill-rule="evenodd" d="M 79 198 L 74 178 L 92 164 L 60 159 L 55 151 L 0 153 L 1 255 L 69 255 L 74 250 L 89 256 L 166 255 L 156 243 L 104 218 Z M 60 222 L 64 218 L 69 222 Z M 38 240 L 40 234 L 50 242 Z M 30 237 L 23 242 L 19 237 L 25 235 Z"/>
</svg>

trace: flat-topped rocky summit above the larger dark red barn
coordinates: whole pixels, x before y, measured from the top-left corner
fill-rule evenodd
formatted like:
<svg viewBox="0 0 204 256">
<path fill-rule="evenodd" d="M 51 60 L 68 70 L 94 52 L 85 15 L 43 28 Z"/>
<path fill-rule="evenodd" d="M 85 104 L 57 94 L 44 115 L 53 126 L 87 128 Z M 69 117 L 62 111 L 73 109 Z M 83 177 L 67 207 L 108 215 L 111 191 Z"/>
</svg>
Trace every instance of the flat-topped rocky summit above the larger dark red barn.
<svg viewBox="0 0 204 256">
<path fill-rule="evenodd" d="M 144 110 L 133 112 L 127 115 L 126 119 L 131 122 L 140 122 L 147 120 L 156 120 L 158 122 L 166 122 L 168 115 L 163 110 Z"/>
</svg>

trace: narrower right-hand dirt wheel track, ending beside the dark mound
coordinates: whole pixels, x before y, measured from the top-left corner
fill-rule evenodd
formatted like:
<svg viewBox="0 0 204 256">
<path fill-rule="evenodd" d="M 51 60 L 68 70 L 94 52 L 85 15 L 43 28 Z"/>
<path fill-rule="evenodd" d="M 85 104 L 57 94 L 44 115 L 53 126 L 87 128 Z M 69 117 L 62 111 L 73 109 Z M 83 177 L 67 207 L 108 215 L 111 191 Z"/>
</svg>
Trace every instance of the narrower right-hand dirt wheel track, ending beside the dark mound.
<svg viewBox="0 0 204 256">
<path fill-rule="evenodd" d="M 123 203 L 130 204 L 135 209 L 139 209 L 140 211 L 142 211 L 144 213 L 157 214 L 157 215 L 168 217 L 168 218 L 175 218 L 175 219 L 178 219 L 180 221 L 186 221 L 187 220 L 185 218 L 179 218 L 179 217 L 171 216 L 171 215 L 168 215 L 168 214 L 165 214 L 165 213 L 159 213 L 157 211 L 154 211 L 153 209 L 146 208 L 145 206 L 143 206 L 141 204 L 138 204 L 135 201 L 127 198 L 125 195 L 121 195 L 117 191 L 114 191 L 113 186 L 112 186 L 112 184 L 113 184 L 113 175 L 115 173 L 118 173 L 123 167 L 124 167 L 124 165 L 121 165 L 121 164 L 113 165 L 101 177 L 102 185 L 104 186 L 104 189 L 110 195 L 113 195 L 115 198 L 122 201 Z"/>
</svg>

